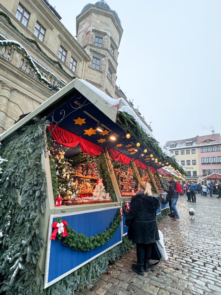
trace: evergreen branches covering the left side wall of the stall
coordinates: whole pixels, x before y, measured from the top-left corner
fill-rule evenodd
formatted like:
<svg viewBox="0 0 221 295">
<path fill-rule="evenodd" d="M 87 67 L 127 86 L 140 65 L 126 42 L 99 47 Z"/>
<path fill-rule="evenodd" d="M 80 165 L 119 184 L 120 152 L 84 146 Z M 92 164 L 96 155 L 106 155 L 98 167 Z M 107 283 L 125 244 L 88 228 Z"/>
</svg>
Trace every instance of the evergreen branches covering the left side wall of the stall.
<svg viewBox="0 0 221 295">
<path fill-rule="evenodd" d="M 0 273 L 6 295 L 43 291 L 37 266 L 40 247 L 45 246 L 39 234 L 46 198 L 42 131 L 42 122 L 24 127 L 2 149 L 8 159 L 0 182 Z"/>
</svg>

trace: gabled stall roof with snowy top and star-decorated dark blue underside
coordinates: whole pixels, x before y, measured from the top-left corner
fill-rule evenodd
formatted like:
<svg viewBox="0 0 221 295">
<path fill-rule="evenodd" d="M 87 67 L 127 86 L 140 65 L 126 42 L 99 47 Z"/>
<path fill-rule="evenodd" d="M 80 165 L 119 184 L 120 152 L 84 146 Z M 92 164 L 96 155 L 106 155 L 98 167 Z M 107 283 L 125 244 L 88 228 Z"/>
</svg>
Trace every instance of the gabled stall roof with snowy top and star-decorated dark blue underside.
<svg viewBox="0 0 221 295">
<path fill-rule="evenodd" d="M 72 132 L 102 148 L 114 148 L 118 152 L 127 155 L 129 158 L 139 159 L 142 163 L 152 165 L 156 169 L 162 167 L 161 163 L 159 164 L 151 161 L 154 158 L 150 158 L 149 155 L 143 154 L 144 146 L 141 145 L 139 148 L 136 147 L 136 136 L 130 140 L 126 139 L 126 131 L 117 121 L 118 111 L 127 112 L 132 115 L 143 130 L 150 137 L 154 138 L 154 135 L 151 130 L 149 130 L 148 126 L 141 121 L 131 108 L 130 104 L 124 99 L 113 99 L 87 81 L 76 78 L 47 99 L 44 103 L 39 105 L 33 112 L 2 133 L 0 135 L 0 141 L 9 140 L 14 135 L 14 132 L 17 132 L 17 130 L 27 124 L 33 123 L 33 120 L 39 121 L 44 117 L 51 117 L 59 127 L 63 128 L 63 130 Z M 72 114 L 73 112 L 75 113 Z M 80 115 L 84 113 L 84 117 L 79 116 L 80 118 L 87 118 L 87 120 L 85 119 L 86 121 L 83 126 L 78 123 L 76 125 L 76 123 L 73 122 L 78 119 L 78 117 L 75 117 L 78 113 Z M 69 117 L 67 118 L 67 116 Z M 110 136 L 106 136 L 107 138 L 104 140 L 104 138 L 101 137 L 101 133 L 98 134 L 98 132 L 95 132 L 97 124 L 99 123 L 102 123 L 106 130 L 110 130 L 111 133 L 118 136 L 118 142 L 116 141 L 118 143 L 117 145 L 110 142 Z M 89 134 L 88 130 L 95 133 Z M 94 135 L 100 135 L 100 138 L 97 138 L 98 136 L 96 137 Z M 122 145 L 124 148 L 122 148 Z M 159 147 L 167 156 L 172 156 L 172 154 L 160 144 Z"/>
</svg>

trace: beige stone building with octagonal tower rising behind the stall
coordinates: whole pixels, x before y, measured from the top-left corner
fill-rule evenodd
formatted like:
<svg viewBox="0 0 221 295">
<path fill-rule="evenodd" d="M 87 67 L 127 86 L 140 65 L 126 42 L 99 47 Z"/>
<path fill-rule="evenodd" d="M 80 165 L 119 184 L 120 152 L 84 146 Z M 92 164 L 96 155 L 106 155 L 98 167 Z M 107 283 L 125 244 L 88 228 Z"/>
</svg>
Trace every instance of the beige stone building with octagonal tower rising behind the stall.
<svg viewBox="0 0 221 295">
<path fill-rule="evenodd" d="M 75 77 L 127 100 L 116 86 L 117 13 L 105 1 L 87 4 L 76 18 L 77 40 L 60 19 L 47 0 L 1 1 L 0 134 Z"/>
</svg>

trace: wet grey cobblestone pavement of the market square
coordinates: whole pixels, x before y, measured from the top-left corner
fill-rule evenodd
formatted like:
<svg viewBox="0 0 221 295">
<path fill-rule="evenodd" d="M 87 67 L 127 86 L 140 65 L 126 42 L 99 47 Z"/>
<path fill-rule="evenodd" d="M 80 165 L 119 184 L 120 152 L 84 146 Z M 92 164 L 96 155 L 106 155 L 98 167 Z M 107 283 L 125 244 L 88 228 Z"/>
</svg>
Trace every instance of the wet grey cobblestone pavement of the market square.
<svg viewBox="0 0 221 295">
<path fill-rule="evenodd" d="M 139 276 L 131 270 L 136 250 L 109 266 L 107 275 L 78 295 L 221 295 L 221 199 L 199 196 L 189 203 L 181 196 L 177 203 L 180 220 L 166 217 L 159 224 L 169 260 Z M 195 219 L 189 219 L 189 208 Z"/>
</svg>

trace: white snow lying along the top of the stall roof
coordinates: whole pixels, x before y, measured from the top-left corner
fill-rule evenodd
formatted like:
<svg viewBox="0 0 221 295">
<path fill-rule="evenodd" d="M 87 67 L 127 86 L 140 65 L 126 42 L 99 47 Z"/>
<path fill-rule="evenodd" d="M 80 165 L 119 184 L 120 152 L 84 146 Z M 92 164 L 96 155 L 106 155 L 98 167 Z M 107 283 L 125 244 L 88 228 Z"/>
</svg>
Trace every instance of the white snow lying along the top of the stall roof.
<svg viewBox="0 0 221 295">
<path fill-rule="evenodd" d="M 152 138 L 156 140 L 153 133 L 149 130 L 149 128 L 142 122 L 142 120 L 138 117 L 138 115 L 134 112 L 134 110 L 131 108 L 131 105 L 123 98 L 111 98 L 109 95 L 104 93 L 102 90 L 98 89 L 97 87 L 93 86 L 91 83 L 81 80 L 86 86 L 88 86 L 91 90 L 93 90 L 95 93 L 97 93 L 100 97 L 102 97 L 105 101 L 107 101 L 112 106 L 115 106 L 116 104 L 119 104 L 120 101 L 123 101 L 123 105 L 120 109 L 118 109 L 119 112 L 127 112 L 131 116 L 135 118 L 135 120 L 138 122 L 138 124 L 142 127 L 142 129 Z M 169 157 L 174 157 L 172 153 L 170 153 L 169 150 L 164 149 L 163 145 L 159 143 L 159 147 L 161 150 Z M 177 161 L 178 162 L 178 161 Z M 179 163 L 179 162 L 178 162 Z M 179 163 L 179 165 L 182 167 L 182 165 Z"/>
</svg>

